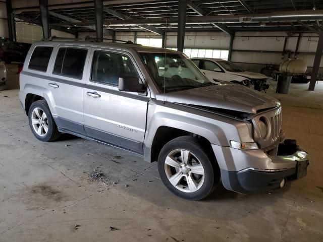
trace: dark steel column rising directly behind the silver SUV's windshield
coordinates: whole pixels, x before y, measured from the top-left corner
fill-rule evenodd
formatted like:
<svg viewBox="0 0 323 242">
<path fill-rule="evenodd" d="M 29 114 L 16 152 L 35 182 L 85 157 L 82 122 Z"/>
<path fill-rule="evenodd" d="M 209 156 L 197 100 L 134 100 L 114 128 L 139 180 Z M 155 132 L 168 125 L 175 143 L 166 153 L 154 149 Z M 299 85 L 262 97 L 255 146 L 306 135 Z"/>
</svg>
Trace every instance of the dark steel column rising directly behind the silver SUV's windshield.
<svg viewBox="0 0 323 242">
<path fill-rule="evenodd" d="M 178 1 L 177 50 L 183 52 L 186 22 L 186 0 Z"/>
</svg>

